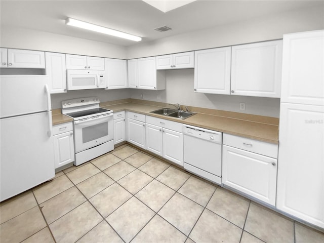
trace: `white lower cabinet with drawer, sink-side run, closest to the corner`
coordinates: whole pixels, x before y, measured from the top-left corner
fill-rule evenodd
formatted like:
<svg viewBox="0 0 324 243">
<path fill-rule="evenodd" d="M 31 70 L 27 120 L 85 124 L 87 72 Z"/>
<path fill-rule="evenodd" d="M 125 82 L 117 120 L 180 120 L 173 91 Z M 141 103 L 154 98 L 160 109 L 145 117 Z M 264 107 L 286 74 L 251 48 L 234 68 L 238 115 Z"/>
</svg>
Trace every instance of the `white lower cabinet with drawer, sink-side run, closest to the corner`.
<svg viewBox="0 0 324 243">
<path fill-rule="evenodd" d="M 145 115 L 127 112 L 127 141 L 146 149 Z"/>
</svg>

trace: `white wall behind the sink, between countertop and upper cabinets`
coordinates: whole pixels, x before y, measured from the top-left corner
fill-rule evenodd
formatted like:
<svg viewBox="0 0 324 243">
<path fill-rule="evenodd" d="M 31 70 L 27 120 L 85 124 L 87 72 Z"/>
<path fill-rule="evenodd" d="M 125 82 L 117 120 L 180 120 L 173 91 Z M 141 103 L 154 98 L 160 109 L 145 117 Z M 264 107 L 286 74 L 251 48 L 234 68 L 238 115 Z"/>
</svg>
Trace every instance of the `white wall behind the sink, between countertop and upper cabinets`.
<svg viewBox="0 0 324 243">
<path fill-rule="evenodd" d="M 143 94 L 144 100 L 279 117 L 280 99 L 195 93 L 194 69 L 167 70 L 166 78 L 166 90 L 133 89 L 131 98 L 141 99 Z M 245 111 L 239 109 L 239 103 L 246 103 Z"/>
</svg>

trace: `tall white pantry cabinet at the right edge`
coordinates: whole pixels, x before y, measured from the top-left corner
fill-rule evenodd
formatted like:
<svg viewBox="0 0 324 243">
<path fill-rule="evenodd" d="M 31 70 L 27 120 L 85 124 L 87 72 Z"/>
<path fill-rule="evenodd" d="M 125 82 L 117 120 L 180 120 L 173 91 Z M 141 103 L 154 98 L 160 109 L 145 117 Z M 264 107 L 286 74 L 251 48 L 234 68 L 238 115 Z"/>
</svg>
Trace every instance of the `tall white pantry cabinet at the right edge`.
<svg viewBox="0 0 324 243">
<path fill-rule="evenodd" d="M 276 207 L 324 228 L 324 31 L 284 35 Z"/>
</svg>

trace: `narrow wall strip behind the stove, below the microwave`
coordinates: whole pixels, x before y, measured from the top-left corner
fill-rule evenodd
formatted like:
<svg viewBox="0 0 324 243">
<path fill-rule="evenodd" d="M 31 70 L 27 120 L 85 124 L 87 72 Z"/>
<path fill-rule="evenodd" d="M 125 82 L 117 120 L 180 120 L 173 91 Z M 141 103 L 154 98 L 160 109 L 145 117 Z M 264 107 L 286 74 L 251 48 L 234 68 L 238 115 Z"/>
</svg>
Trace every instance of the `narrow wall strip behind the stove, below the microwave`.
<svg viewBox="0 0 324 243">
<path fill-rule="evenodd" d="M 61 102 L 63 100 L 76 99 L 82 97 L 98 97 L 100 102 L 128 99 L 131 96 L 131 91 L 129 89 L 119 89 L 119 90 L 72 90 L 67 91 L 64 94 L 52 94 L 52 109 L 61 108 Z"/>
</svg>

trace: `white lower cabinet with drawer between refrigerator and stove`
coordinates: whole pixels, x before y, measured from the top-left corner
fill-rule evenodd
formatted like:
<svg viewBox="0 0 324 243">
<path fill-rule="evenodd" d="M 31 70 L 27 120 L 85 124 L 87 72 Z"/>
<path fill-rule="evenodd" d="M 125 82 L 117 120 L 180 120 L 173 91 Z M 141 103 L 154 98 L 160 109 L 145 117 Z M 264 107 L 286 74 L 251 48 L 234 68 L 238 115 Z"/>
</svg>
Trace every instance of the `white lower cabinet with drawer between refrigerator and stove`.
<svg viewBox="0 0 324 243">
<path fill-rule="evenodd" d="M 72 123 L 53 126 L 55 169 L 74 161 Z"/>
</svg>

